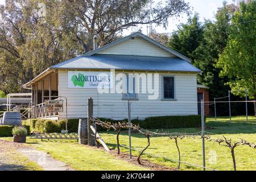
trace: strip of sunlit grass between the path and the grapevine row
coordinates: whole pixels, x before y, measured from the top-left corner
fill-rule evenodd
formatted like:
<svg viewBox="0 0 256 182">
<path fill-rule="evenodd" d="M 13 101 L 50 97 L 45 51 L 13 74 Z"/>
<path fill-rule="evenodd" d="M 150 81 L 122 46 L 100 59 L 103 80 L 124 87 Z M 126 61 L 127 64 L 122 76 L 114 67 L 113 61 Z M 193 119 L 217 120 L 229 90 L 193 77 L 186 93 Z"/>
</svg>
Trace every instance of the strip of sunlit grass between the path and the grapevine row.
<svg viewBox="0 0 256 182">
<path fill-rule="evenodd" d="M 10 137 L 0 139 L 12 140 Z M 76 170 L 148 170 L 148 168 L 116 159 L 113 155 L 96 147 L 81 146 L 76 140 L 43 140 L 42 142 L 27 137 L 25 145 L 48 152 L 53 158 L 69 164 Z"/>
</svg>

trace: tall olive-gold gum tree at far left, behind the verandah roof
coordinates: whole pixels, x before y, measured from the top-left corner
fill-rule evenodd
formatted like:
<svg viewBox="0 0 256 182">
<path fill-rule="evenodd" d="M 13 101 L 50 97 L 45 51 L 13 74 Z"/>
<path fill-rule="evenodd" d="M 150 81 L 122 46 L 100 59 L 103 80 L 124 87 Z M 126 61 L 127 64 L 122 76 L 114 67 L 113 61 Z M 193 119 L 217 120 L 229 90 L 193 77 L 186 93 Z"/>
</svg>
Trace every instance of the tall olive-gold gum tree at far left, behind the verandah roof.
<svg viewBox="0 0 256 182">
<path fill-rule="evenodd" d="M 0 6 L 0 86 L 5 93 L 26 91 L 24 83 L 79 50 L 79 44 L 69 40 L 72 30 L 60 27 L 52 15 L 57 1 L 46 3 L 44 16 L 36 0 Z"/>
</svg>

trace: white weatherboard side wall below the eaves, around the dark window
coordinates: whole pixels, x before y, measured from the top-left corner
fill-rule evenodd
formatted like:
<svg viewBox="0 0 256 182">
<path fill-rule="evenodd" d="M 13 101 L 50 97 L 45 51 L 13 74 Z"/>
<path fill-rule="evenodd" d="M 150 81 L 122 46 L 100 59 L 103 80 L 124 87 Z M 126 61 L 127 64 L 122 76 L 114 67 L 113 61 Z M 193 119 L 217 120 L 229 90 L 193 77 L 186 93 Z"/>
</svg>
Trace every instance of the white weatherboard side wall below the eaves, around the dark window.
<svg viewBox="0 0 256 182">
<path fill-rule="evenodd" d="M 158 100 L 148 100 L 147 94 L 138 94 L 139 100 L 131 101 L 131 117 L 143 119 L 156 115 L 197 114 L 196 74 L 160 73 L 160 75 L 175 77 L 175 94 L 177 100 L 172 102 L 161 101 L 162 76 L 159 76 L 160 95 Z M 97 89 L 69 89 L 68 71 L 59 71 L 59 96 L 68 98 L 68 118 L 86 118 L 89 97 L 92 97 L 94 100 L 94 116 L 113 119 L 127 118 L 127 101 L 122 100 L 122 94 L 99 94 Z M 61 118 L 65 118 L 65 113 L 60 113 Z"/>
</svg>

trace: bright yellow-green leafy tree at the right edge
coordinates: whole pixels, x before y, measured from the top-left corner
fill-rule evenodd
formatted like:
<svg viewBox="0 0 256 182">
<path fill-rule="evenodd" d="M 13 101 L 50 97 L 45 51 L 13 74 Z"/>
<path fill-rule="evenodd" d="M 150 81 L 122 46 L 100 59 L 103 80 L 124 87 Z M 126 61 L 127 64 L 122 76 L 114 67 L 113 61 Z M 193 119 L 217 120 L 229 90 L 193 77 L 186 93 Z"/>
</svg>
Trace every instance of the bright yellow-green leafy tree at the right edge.
<svg viewBox="0 0 256 182">
<path fill-rule="evenodd" d="M 240 3 L 240 9 L 232 17 L 228 44 L 220 55 L 217 68 L 220 76 L 228 76 L 226 82 L 233 91 L 247 90 L 248 96 L 256 99 L 256 4 L 250 0 Z M 244 97 L 244 92 L 233 92 Z M 254 102 L 256 117 L 256 102 Z"/>
</svg>

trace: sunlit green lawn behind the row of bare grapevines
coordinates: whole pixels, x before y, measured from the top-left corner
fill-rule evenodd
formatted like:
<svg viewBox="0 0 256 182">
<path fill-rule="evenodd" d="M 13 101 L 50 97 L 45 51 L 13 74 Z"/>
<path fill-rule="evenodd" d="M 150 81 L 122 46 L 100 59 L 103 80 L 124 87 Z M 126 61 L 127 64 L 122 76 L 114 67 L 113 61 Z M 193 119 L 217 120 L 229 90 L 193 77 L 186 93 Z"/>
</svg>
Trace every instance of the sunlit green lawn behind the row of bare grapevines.
<svg viewBox="0 0 256 182">
<path fill-rule="evenodd" d="M 232 123 L 229 123 L 228 117 L 220 119 L 218 122 L 214 122 L 214 118 L 207 119 L 206 126 L 213 127 L 212 130 L 206 130 L 211 133 L 216 133 L 213 138 L 220 138 L 222 135 L 231 138 L 232 140 L 239 140 L 240 138 L 246 139 L 250 142 L 256 143 L 256 118 L 249 117 L 249 123 L 245 122 L 245 117 L 233 117 Z M 240 120 L 240 118 L 244 118 Z M 162 130 L 161 130 L 162 131 Z M 159 131 L 159 132 L 161 132 Z M 193 133 L 200 131 L 200 129 L 170 129 L 164 130 L 168 132 L 182 132 Z M 101 133 L 101 137 L 106 142 L 115 148 L 115 133 Z M 129 138 L 127 134 L 121 133 L 120 143 L 129 146 Z M 202 142 L 199 137 L 196 139 L 184 138 L 178 141 L 181 161 L 189 162 L 193 164 L 203 164 L 202 156 Z M 147 146 L 147 139 L 143 135 L 132 135 L 132 146 L 141 150 Z M 121 147 L 121 151 L 129 152 L 125 147 Z M 160 156 L 166 156 L 171 159 L 178 159 L 177 149 L 175 141 L 168 139 L 168 137 L 152 137 L 151 145 L 146 152 L 156 154 Z M 138 155 L 138 152 L 133 151 L 133 154 Z M 205 142 L 205 154 L 206 154 L 206 166 L 218 170 L 233 170 L 232 156 L 228 147 L 219 146 L 216 142 Z M 235 149 L 237 170 L 256 170 L 256 150 L 248 146 L 238 146 Z M 150 160 L 151 162 L 161 164 L 163 166 L 174 168 L 177 166 L 176 162 L 166 160 L 164 158 L 152 158 L 149 155 L 143 155 L 143 159 Z M 186 164 L 181 164 L 181 170 L 201 170 L 201 168 L 191 167 Z"/>
</svg>

